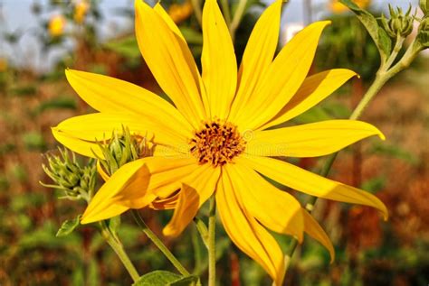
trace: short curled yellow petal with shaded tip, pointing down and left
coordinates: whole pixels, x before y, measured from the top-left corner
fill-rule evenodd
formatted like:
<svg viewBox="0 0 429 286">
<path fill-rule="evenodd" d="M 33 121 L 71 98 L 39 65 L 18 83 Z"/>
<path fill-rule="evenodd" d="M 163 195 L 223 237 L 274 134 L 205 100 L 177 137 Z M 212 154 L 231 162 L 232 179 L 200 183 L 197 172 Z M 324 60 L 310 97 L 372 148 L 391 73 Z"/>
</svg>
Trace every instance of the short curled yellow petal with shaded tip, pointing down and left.
<svg viewBox="0 0 429 286">
<path fill-rule="evenodd" d="M 220 168 L 205 164 L 184 179 L 173 217 L 163 229 L 164 235 L 177 236 L 182 233 L 198 209 L 212 196 L 219 175 Z"/>
</svg>

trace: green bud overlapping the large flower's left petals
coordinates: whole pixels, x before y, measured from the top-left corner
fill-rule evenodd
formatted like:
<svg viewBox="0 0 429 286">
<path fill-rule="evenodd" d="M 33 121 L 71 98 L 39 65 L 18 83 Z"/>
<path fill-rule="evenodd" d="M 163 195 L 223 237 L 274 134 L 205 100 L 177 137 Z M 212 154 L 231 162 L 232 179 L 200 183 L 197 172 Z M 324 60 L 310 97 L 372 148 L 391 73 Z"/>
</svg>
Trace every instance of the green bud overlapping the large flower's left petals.
<svg viewBox="0 0 429 286">
<path fill-rule="evenodd" d="M 109 142 L 100 143 L 104 159 L 98 158 L 104 171 L 113 174 L 121 166 L 145 156 L 147 143 L 144 137 L 131 135 L 129 128 L 122 127 L 122 132 L 113 132 Z"/>
</svg>

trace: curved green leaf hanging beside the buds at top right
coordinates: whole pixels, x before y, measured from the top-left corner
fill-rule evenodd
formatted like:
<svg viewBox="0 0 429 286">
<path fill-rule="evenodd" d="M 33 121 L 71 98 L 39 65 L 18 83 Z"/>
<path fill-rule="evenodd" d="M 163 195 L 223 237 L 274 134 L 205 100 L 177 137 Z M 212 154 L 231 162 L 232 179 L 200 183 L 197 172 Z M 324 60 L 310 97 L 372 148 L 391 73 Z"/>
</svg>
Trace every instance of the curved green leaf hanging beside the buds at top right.
<svg viewBox="0 0 429 286">
<path fill-rule="evenodd" d="M 351 0 L 339 0 L 339 2 L 348 6 L 348 8 L 357 15 L 359 21 L 365 28 L 367 28 L 367 32 L 369 32 L 371 38 L 376 43 L 381 60 L 384 62 L 390 55 L 390 51 L 392 51 L 392 41 L 386 31 L 378 25 L 376 18 L 372 14 L 361 9 Z"/>
</svg>

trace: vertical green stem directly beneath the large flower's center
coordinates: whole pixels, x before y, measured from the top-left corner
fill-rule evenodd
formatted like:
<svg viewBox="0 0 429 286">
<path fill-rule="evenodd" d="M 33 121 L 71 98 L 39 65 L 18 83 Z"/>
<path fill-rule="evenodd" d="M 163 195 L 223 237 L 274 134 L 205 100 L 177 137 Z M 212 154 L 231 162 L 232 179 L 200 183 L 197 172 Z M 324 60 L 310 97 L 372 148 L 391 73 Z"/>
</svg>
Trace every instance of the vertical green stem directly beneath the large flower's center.
<svg viewBox="0 0 429 286">
<path fill-rule="evenodd" d="M 216 250 L 215 250 L 215 226 L 216 226 L 216 200 L 215 195 L 210 198 L 208 215 L 208 286 L 216 284 Z"/>
</svg>

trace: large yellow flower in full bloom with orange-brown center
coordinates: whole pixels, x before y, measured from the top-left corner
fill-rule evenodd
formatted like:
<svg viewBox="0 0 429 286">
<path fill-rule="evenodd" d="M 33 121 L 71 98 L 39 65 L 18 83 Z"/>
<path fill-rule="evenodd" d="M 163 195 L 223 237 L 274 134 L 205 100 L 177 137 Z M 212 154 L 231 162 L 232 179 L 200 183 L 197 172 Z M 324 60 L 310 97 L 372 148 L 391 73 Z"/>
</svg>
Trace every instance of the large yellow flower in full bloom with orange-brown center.
<svg viewBox="0 0 429 286">
<path fill-rule="evenodd" d="M 66 71 L 71 87 L 99 113 L 72 117 L 53 128 L 60 143 L 86 156 L 102 156 L 97 141 L 123 125 L 153 143 L 153 156 L 104 176 L 107 181 L 82 223 L 115 217 L 129 208 L 175 207 L 164 234 L 179 235 L 215 193 L 234 244 L 281 285 L 284 255 L 267 228 L 300 241 L 307 233 L 328 248 L 332 259 L 334 250 L 298 200 L 262 175 L 311 196 L 377 208 L 387 217 L 386 206 L 375 196 L 272 158 L 323 156 L 368 136 L 384 138 L 373 125 L 352 120 L 274 128 L 356 75 L 331 69 L 306 78 L 326 21 L 310 24 L 274 58 L 281 2 L 267 8 L 254 26 L 237 70 L 221 11 L 215 0 L 205 1 L 200 76 L 166 11 L 159 4 L 151 8 L 136 1 L 139 49 L 174 106 L 116 78 Z"/>
</svg>

